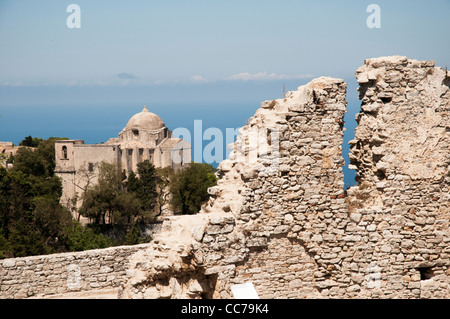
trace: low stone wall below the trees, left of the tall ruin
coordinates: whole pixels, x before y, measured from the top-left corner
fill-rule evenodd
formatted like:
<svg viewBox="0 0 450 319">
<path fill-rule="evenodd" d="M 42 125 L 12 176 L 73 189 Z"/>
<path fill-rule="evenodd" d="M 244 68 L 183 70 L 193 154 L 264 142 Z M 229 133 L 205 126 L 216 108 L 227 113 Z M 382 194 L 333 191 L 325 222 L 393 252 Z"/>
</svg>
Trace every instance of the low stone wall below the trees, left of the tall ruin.
<svg viewBox="0 0 450 319">
<path fill-rule="evenodd" d="M 129 257 L 146 245 L 0 260 L 0 298 L 117 296 Z"/>
</svg>

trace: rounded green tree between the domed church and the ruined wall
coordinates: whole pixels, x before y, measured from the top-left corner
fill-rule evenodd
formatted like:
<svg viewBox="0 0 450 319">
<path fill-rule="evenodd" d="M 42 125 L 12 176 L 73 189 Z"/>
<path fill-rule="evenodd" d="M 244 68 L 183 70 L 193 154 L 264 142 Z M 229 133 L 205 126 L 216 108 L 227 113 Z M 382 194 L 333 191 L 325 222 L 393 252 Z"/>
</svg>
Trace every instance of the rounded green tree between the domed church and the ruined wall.
<svg viewBox="0 0 450 319">
<path fill-rule="evenodd" d="M 190 163 L 172 180 L 172 206 L 182 214 L 194 214 L 208 198 L 208 188 L 216 185 L 216 169 L 205 163 Z"/>
</svg>

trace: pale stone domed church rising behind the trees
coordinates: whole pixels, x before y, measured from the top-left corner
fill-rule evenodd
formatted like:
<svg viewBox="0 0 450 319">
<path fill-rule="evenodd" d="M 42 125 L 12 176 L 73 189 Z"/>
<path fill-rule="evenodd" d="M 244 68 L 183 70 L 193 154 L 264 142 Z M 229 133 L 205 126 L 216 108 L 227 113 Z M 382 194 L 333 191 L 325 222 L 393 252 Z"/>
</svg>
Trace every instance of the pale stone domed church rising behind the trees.
<svg viewBox="0 0 450 319">
<path fill-rule="evenodd" d="M 147 107 L 128 121 L 118 137 L 104 144 L 83 140 L 55 141 L 55 174 L 62 180 L 61 203 L 75 209 L 89 185 L 97 183 L 102 162 L 115 164 L 127 176 L 149 160 L 155 167 L 177 170 L 191 162 L 191 144 L 172 138 L 172 132 Z"/>
</svg>

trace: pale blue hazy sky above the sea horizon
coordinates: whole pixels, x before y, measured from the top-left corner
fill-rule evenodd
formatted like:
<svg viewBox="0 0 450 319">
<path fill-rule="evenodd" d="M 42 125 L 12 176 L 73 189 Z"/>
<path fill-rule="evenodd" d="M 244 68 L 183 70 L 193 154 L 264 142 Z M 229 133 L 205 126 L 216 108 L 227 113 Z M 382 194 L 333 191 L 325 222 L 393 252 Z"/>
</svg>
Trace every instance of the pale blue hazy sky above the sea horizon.
<svg viewBox="0 0 450 319">
<path fill-rule="evenodd" d="M 69 4 L 81 28 L 69 29 Z M 370 29 L 369 4 L 381 9 Z M 0 86 L 351 77 L 365 58 L 450 64 L 450 1 L 0 0 Z"/>
</svg>

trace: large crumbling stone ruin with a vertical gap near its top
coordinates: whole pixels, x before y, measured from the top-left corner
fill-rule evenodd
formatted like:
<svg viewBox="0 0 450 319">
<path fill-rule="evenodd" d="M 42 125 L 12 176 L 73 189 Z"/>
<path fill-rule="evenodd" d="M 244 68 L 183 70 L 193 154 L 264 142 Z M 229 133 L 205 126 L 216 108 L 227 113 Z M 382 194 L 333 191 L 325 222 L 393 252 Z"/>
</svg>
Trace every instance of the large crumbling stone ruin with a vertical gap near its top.
<svg viewBox="0 0 450 319">
<path fill-rule="evenodd" d="M 393 56 L 356 77 L 358 186 L 344 190 L 343 80 L 265 101 L 210 201 L 130 255 L 118 297 L 232 298 L 252 282 L 261 298 L 449 298 L 449 73 Z"/>
</svg>

